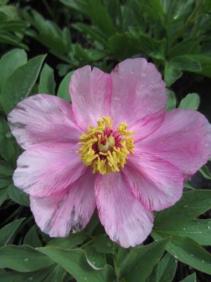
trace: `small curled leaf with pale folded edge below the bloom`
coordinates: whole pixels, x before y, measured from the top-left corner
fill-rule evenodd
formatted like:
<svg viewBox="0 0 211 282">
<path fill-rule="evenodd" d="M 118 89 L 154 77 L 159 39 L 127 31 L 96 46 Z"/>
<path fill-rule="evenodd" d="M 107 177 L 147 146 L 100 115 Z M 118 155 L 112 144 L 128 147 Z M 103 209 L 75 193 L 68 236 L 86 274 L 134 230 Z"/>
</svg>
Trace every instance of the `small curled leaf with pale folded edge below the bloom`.
<svg viewBox="0 0 211 282">
<path fill-rule="evenodd" d="M 89 245 L 84 248 L 86 253 L 87 262 L 93 269 L 103 269 L 106 266 L 106 255 L 96 252 L 94 245 Z"/>
</svg>

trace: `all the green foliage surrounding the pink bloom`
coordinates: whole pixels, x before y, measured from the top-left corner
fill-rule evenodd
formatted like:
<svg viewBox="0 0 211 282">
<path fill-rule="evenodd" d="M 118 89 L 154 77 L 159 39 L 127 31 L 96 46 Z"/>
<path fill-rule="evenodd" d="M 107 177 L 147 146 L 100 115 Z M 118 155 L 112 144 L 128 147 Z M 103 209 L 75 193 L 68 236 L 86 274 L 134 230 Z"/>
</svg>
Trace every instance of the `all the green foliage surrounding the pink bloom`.
<svg viewBox="0 0 211 282">
<path fill-rule="evenodd" d="M 52 239 L 39 231 L 27 195 L 13 185 L 22 149 L 6 121 L 37 92 L 70 102 L 75 68 L 110 72 L 139 56 L 162 73 L 167 110 L 199 109 L 211 121 L 210 30 L 210 0 L 0 0 L 0 281 L 210 281 L 210 164 L 185 184 L 191 192 L 156 214 L 144 246 L 112 243 L 96 214 L 85 231 Z"/>
</svg>

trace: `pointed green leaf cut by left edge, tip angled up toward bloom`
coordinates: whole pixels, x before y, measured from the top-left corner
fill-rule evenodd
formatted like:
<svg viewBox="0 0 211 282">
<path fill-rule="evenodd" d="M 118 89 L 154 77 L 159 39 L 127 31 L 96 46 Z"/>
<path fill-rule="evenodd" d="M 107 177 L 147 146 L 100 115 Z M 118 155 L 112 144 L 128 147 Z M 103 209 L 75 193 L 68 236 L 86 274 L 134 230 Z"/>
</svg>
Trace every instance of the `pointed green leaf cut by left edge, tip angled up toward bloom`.
<svg viewBox="0 0 211 282">
<path fill-rule="evenodd" d="M 24 220 L 25 218 L 17 219 L 0 229 L 0 247 L 9 243 L 15 231 L 17 231 L 18 227 Z"/>
</svg>

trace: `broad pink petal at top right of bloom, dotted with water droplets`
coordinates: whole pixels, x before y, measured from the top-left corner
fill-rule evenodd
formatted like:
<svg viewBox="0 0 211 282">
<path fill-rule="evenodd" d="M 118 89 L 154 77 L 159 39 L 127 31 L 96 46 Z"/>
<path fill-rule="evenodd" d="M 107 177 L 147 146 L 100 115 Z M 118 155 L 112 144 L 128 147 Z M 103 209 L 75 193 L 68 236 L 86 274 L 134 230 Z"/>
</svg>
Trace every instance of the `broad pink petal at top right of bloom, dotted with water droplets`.
<svg viewBox="0 0 211 282">
<path fill-rule="evenodd" d="M 146 59 L 127 59 L 113 70 L 111 116 L 115 125 L 133 125 L 165 108 L 166 90 L 160 73 Z"/>
</svg>

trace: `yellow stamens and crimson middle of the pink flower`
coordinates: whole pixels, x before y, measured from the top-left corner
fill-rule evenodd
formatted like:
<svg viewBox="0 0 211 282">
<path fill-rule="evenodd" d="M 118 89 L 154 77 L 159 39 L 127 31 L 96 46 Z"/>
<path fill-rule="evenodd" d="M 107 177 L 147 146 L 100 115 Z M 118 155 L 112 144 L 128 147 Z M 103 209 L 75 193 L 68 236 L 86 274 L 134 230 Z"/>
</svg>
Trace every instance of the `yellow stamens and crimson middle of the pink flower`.
<svg viewBox="0 0 211 282">
<path fill-rule="evenodd" d="M 128 131 L 127 123 L 123 122 L 113 130 L 110 116 L 102 116 L 98 126 L 89 125 L 87 133 L 79 137 L 82 145 L 78 153 L 84 166 L 92 166 L 93 173 L 108 174 L 124 168 L 129 154 L 133 154 L 134 140 Z"/>
</svg>

